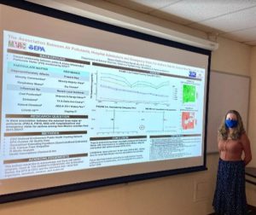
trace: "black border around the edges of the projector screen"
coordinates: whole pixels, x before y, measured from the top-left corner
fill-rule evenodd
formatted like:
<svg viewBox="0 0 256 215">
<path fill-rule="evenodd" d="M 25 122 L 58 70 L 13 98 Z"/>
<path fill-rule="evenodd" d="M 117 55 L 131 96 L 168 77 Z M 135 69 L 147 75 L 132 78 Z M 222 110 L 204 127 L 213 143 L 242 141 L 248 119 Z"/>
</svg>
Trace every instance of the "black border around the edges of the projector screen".
<svg viewBox="0 0 256 215">
<path fill-rule="evenodd" d="M 17 9 L 24 9 L 30 12 L 37 13 L 39 15 L 50 16 L 52 18 L 56 18 L 59 20 L 67 20 L 69 22 L 73 22 L 83 26 L 90 26 L 96 29 L 107 31 L 107 32 L 118 33 L 120 35 L 128 36 L 131 38 L 142 39 L 148 42 L 153 42 L 155 44 L 163 44 L 173 48 L 188 50 L 188 51 L 199 53 L 202 55 L 207 55 L 208 68 L 207 68 L 207 91 L 206 91 L 207 95 L 206 95 L 205 126 L 204 126 L 204 131 L 205 131 L 204 152 L 203 152 L 202 166 L 194 166 L 194 167 L 181 168 L 181 169 L 168 170 L 168 171 L 154 171 L 154 172 L 148 172 L 143 174 L 125 176 L 125 177 L 113 177 L 108 179 L 96 180 L 92 182 L 74 183 L 74 184 L 61 185 L 61 186 L 50 187 L 45 189 L 36 189 L 36 190 L 29 190 L 25 192 L 18 192 L 18 193 L 13 193 L 8 195 L 1 195 L 0 203 L 6 203 L 10 201 L 15 201 L 15 200 L 31 199 L 31 198 L 45 196 L 45 195 L 67 193 L 67 192 L 77 191 L 81 189 L 92 189 L 92 188 L 109 186 L 109 185 L 119 184 L 119 183 L 131 183 L 135 181 L 141 181 L 141 180 L 152 179 L 157 177 L 167 177 L 167 176 L 172 176 L 177 174 L 207 170 L 207 161 L 206 161 L 207 159 L 207 114 L 208 114 L 208 97 L 209 97 L 209 82 L 210 82 L 210 65 L 211 65 L 211 55 L 212 55 L 211 50 L 197 48 L 188 44 L 181 44 L 175 41 L 168 40 L 166 38 L 158 38 L 143 32 L 136 32 L 130 29 L 126 29 L 124 27 L 113 26 L 98 20 L 91 20 L 79 15 L 69 14 L 61 10 L 51 9 L 42 5 L 38 5 L 36 3 L 29 3 L 26 1 L 20 0 L 20 1 L 2 1 L 1 4 L 14 7 Z"/>
</svg>

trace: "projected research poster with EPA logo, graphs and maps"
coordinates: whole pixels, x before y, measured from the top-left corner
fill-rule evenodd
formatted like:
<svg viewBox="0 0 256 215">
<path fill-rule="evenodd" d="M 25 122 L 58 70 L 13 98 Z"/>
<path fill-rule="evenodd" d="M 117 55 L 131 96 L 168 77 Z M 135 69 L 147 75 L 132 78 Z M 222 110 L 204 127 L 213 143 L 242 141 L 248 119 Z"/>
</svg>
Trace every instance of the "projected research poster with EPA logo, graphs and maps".
<svg viewBox="0 0 256 215">
<path fill-rule="evenodd" d="M 205 69 L 3 36 L 0 179 L 201 156 Z"/>
</svg>

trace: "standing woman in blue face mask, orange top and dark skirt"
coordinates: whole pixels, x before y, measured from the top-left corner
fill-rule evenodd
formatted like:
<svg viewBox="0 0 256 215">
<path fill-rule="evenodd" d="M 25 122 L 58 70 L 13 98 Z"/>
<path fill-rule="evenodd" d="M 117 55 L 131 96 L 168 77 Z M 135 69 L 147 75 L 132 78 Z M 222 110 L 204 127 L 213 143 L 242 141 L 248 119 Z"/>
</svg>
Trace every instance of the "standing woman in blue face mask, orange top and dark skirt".
<svg viewBox="0 0 256 215">
<path fill-rule="evenodd" d="M 235 110 L 226 113 L 218 129 L 218 174 L 212 206 L 216 213 L 247 212 L 245 166 L 252 160 L 250 141 Z"/>
</svg>

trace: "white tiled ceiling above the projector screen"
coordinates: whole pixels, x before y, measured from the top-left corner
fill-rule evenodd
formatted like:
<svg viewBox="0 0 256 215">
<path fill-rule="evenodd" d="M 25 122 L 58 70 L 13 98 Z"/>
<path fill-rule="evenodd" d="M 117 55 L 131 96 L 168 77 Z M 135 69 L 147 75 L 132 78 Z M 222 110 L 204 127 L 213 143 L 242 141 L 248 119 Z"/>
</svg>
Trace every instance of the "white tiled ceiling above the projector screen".
<svg viewBox="0 0 256 215">
<path fill-rule="evenodd" d="M 118 10 L 119 7 L 169 20 L 207 32 L 212 37 L 230 38 L 256 45 L 256 0 L 27 0 L 54 7 L 84 3 Z M 60 4 L 61 3 L 61 4 Z M 103 6 L 102 6 L 103 5 Z M 56 8 L 60 7 L 56 4 Z M 77 10 L 76 10 L 77 11 Z"/>
</svg>

